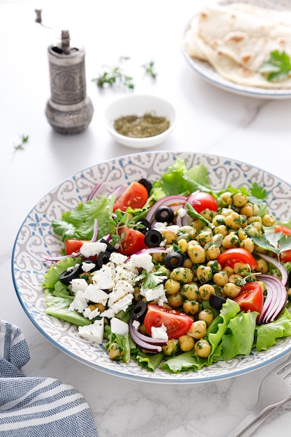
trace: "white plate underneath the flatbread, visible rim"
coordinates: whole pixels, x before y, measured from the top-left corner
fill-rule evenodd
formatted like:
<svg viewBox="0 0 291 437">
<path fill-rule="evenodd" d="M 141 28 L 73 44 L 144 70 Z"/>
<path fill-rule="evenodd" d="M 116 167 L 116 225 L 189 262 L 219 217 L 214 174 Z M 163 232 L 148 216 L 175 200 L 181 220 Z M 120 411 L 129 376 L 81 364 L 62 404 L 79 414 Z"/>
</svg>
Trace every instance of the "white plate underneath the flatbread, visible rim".
<svg viewBox="0 0 291 437">
<path fill-rule="evenodd" d="M 230 3 L 248 3 L 261 8 L 270 8 L 277 10 L 290 10 L 289 0 L 225 0 L 219 1 L 219 4 L 230 4 Z M 192 20 L 192 19 L 191 19 Z M 186 25 L 185 32 L 190 27 L 190 22 Z M 189 57 L 182 45 L 181 50 L 186 58 L 188 64 L 193 68 L 193 70 L 215 87 L 224 89 L 225 91 L 230 91 L 234 94 L 240 94 L 242 96 L 257 97 L 257 98 L 270 98 L 270 99 L 283 99 L 291 98 L 291 89 L 264 89 L 260 87 L 247 87 L 244 85 L 239 85 L 230 80 L 225 79 L 211 67 L 208 62 L 200 61 L 199 59 L 193 59 Z"/>
</svg>

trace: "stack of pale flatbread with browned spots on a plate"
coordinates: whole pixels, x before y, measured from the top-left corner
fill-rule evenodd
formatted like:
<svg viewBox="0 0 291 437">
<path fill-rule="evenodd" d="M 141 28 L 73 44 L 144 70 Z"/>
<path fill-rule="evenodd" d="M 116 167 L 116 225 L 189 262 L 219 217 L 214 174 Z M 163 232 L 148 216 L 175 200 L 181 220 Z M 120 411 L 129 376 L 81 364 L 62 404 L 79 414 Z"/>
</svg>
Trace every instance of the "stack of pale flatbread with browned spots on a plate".
<svg viewBox="0 0 291 437">
<path fill-rule="evenodd" d="M 291 88 L 291 75 L 269 82 L 259 72 L 271 52 L 291 59 L 291 12 L 245 3 L 227 6 L 209 3 L 184 34 L 189 57 L 207 61 L 225 79 L 262 88 Z"/>
</svg>

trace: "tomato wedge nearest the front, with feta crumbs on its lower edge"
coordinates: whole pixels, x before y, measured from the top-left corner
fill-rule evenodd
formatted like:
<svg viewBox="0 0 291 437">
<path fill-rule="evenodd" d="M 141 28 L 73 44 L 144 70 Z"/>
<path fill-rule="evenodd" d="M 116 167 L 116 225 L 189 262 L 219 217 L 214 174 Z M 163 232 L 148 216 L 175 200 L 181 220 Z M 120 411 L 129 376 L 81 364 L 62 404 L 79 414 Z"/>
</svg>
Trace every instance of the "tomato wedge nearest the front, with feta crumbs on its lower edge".
<svg viewBox="0 0 291 437">
<path fill-rule="evenodd" d="M 147 334 L 151 335 L 151 327 L 165 325 L 169 339 L 178 339 L 179 336 L 186 334 L 192 323 L 192 318 L 187 314 L 156 304 L 147 306 L 147 314 L 144 318 Z"/>
</svg>

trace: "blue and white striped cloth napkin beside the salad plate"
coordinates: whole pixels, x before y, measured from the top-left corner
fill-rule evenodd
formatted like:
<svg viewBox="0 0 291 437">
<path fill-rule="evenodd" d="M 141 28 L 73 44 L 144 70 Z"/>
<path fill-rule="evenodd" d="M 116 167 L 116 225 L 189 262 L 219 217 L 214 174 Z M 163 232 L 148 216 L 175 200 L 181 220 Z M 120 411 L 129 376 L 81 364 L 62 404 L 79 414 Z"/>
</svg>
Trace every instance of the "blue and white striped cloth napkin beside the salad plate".
<svg viewBox="0 0 291 437">
<path fill-rule="evenodd" d="M 98 437 L 82 394 L 54 378 L 24 376 L 29 359 L 20 329 L 0 320 L 0 436 Z"/>
</svg>

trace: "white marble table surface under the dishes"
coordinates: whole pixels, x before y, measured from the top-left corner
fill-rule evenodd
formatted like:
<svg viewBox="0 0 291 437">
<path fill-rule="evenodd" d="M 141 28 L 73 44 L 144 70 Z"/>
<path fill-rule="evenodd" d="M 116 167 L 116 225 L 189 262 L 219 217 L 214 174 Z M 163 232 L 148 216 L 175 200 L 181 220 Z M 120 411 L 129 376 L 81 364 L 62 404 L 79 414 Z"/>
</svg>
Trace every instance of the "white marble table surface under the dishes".
<svg viewBox="0 0 291 437">
<path fill-rule="evenodd" d="M 19 326 L 31 360 L 27 376 L 51 376 L 87 399 L 100 437 L 223 437 L 248 415 L 260 383 L 276 365 L 213 383 L 144 383 L 96 371 L 53 346 L 17 299 L 10 262 L 22 221 L 51 188 L 95 163 L 133 152 L 105 130 L 103 113 L 124 91 L 92 82 L 104 64 L 130 57 L 134 92 L 172 101 L 179 123 L 152 150 L 217 154 L 259 166 L 291 184 L 291 100 L 251 98 L 205 82 L 186 63 L 181 37 L 202 0 L 73 0 L 0 2 L 1 306 L 0 318 Z M 35 22 L 43 10 L 43 24 Z M 52 29 L 49 29 L 51 27 Z M 61 29 L 86 50 L 87 94 L 94 117 L 80 135 L 61 135 L 45 117 L 50 97 L 47 47 Z M 155 60 L 152 82 L 137 66 Z M 21 135 L 24 149 L 15 150 Z M 291 402 L 273 413 L 255 436 L 290 436 Z M 247 434 L 246 434 L 247 435 Z"/>
</svg>

